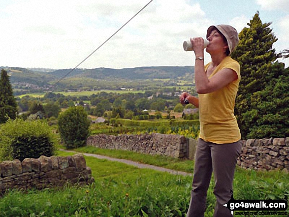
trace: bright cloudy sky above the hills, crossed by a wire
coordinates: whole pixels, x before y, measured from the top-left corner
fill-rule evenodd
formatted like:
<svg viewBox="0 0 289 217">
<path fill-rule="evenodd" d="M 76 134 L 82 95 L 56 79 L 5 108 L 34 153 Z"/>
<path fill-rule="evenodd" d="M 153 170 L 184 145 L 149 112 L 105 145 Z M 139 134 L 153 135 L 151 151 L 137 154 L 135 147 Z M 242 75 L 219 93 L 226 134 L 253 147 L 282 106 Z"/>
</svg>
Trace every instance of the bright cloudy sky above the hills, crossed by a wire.
<svg viewBox="0 0 289 217">
<path fill-rule="evenodd" d="M 149 1 L 1 0 L 0 66 L 74 68 Z M 280 52 L 289 49 L 288 8 L 289 0 L 153 0 L 78 68 L 194 65 L 184 41 L 211 25 L 240 32 L 257 11 Z"/>
</svg>

